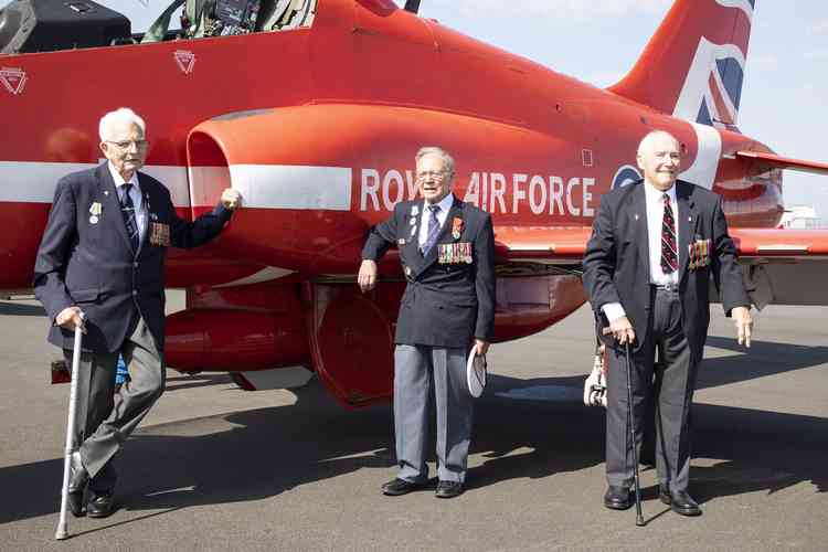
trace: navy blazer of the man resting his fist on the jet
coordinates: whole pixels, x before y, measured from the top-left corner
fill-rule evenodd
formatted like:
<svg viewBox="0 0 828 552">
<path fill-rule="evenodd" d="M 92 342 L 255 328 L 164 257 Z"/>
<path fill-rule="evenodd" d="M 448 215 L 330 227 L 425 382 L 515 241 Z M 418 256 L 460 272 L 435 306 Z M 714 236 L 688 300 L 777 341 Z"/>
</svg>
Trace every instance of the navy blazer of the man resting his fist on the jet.
<svg viewBox="0 0 828 552">
<path fill-rule="evenodd" d="M 141 172 L 138 184 L 147 205 L 147 231 L 137 255 L 106 162 L 62 178 L 55 189 L 34 264 L 34 294 L 51 321 L 66 307 L 81 307 L 87 317 L 84 349 L 117 351 L 140 314 L 159 351 L 163 350 L 167 247 L 150 243 L 151 223 L 169 225 L 171 245 L 190 248 L 215 237 L 231 216 L 219 205 L 194 222 L 184 222 L 176 215 L 163 184 Z M 93 203 L 102 206 L 95 224 Z M 73 336 L 53 325 L 49 341 L 71 349 Z"/>
</svg>

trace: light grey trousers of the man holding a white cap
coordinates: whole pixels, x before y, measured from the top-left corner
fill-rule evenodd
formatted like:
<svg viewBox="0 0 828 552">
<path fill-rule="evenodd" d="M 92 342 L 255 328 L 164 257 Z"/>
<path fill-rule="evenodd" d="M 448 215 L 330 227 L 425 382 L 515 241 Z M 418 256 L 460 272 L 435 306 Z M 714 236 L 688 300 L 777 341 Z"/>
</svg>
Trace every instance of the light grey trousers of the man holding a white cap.
<svg viewBox="0 0 828 552">
<path fill-rule="evenodd" d="M 394 432 L 397 477 L 428 479 L 428 397 L 437 410 L 437 476 L 466 478 L 474 399 L 466 384 L 466 348 L 399 344 L 394 350 Z"/>
</svg>

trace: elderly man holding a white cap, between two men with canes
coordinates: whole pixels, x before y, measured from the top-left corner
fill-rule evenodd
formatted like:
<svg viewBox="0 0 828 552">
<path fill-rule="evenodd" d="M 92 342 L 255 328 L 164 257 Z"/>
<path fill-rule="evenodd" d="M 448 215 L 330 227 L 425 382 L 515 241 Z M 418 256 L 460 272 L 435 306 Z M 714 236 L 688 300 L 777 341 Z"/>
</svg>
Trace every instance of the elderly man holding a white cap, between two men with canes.
<svg viewBox="0 0 828 552">
<path fill-rule="evenodd" d="M 396 244 L 407 286 L 394 341 L 394 431 L 400 470 L 383 485 L 405 495 L 428 480 L 428 395 L 437 410 L 436 496 L 463 492 L 474 399 L 466 358 L 489 348 L 495 325 L 495 236 L 488 213 L 452 192 L 454 160 L 439 148 L 416 155 L 422 199 L 405 201 L 374 226 L 362 250 L 359 285 L 374 287 L 376 261 Z"/>
</svg>

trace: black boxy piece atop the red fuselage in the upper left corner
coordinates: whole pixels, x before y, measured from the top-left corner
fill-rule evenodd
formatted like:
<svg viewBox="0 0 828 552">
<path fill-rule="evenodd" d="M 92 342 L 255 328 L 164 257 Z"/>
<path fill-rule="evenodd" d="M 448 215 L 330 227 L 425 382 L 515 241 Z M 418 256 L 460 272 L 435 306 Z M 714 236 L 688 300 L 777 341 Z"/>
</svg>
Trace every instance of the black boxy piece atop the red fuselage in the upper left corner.
<svg viewBox="0 0 828 552">
<path fill-rule="evenodd" d="M 129 20 L 91 0 L 14 0 L 0 10 L 0 53 L 52 52 L 128 41 Z"/>
</svg>

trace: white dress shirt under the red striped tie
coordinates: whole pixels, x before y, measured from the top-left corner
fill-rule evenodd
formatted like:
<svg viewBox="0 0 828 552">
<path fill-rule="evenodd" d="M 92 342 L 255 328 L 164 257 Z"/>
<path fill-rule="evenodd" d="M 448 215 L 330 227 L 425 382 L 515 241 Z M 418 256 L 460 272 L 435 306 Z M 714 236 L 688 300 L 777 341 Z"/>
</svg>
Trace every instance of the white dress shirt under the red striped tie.
<svg viewBox="0 0 828 552">
<path fill-rule="evenodd" d="M 676 286 L 679 283 L 679 272 L 676 270 L 672 274 L 665 274 L 661 269 L 661 225 L 664 223 L 665 216 L 665 193 L 670 198 L 670 209 L 672 210 L 672 220 L 676 226 L 672 229 L 672 231 L 676 235 L 676 244 L 678 248 L 679 212 L 678 204 L 676 203 L 676 184 L 672 184 L 672 187 L 666 192 L 658 190 L 646 180 L 641 185 L 644 185 L 645 201 L 647 204 L 647 240 L 650 250 L 650 284 L 655 284 L 657 286 Z M 677 264 L 681 266 L 680 251 L 676 252 L 676 261 Z M 620 302 L 607 302 L 606 305 L 602 306 L 601 309 L 604 311 L 607 320 L 609 320 L 611 322 L 626 316 L 624 307 L 622 307 Z"/>
</svg>

